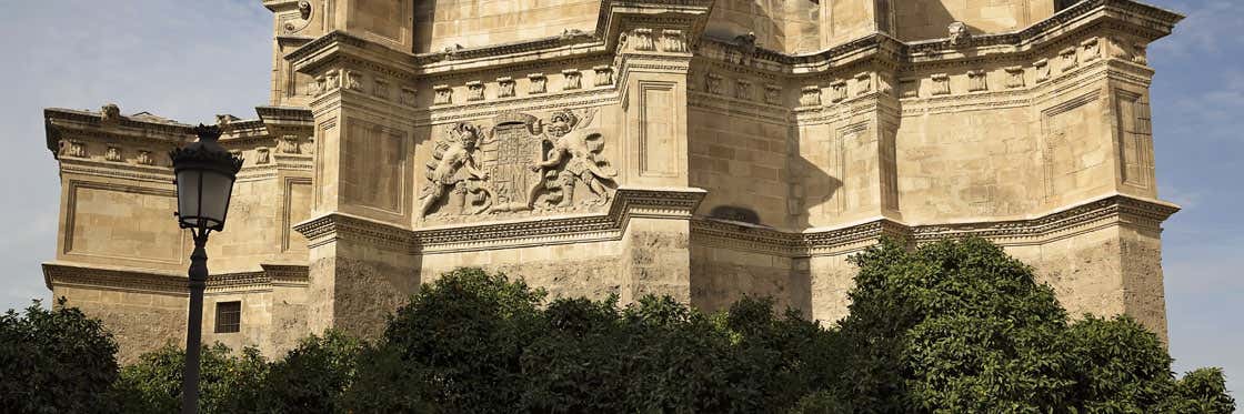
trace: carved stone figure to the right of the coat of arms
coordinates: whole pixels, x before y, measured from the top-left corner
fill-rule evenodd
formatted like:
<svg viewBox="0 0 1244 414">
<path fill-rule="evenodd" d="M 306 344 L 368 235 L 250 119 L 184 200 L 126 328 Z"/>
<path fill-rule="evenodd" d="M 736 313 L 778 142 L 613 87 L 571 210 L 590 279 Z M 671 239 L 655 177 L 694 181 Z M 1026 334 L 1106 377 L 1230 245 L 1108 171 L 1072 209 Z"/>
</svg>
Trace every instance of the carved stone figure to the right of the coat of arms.
<svg viewBox="0 0 1244 414">
<path fill-rule="evenodd" d="M 587 190 L 596 196 L 593 203 L 605 204 L 610 199 L 610 189 L 605 182 L 612 182 L 617 172 L 610 167 L 607 160 L 600 159 L 605 142 L 598 132 L 585 128 L 591 124 L 596 111 L 588 111 L 586 119 L 580 121 L 570 111 L 554 113 L 545 128 L 545 142 L 552 145 L 546 159 L 531 167 L 534 172 L 564 168 L 557 172 L 555 179 L 561 188 L 561 200 L 557 206 L 569 206 L 573 203 L 575 184 L 582 182 Z M 549 174 L 551 175 L 551 174 Z"/>
</svg>

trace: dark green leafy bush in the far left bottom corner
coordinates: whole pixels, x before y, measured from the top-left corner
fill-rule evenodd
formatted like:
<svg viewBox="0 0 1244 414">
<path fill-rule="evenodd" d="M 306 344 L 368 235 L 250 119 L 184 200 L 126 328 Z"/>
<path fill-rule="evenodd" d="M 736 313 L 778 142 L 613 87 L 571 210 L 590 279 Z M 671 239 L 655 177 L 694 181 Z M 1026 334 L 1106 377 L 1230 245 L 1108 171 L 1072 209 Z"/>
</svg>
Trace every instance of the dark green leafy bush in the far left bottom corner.
<svg viewBox="0 0 1244 414">
<path fill-rule="evenodd" d="M 100 413 L 113 409 L 117 343 L 77 308 L 35 301 L 0 315 L 0 413 Z"/>
</svg>

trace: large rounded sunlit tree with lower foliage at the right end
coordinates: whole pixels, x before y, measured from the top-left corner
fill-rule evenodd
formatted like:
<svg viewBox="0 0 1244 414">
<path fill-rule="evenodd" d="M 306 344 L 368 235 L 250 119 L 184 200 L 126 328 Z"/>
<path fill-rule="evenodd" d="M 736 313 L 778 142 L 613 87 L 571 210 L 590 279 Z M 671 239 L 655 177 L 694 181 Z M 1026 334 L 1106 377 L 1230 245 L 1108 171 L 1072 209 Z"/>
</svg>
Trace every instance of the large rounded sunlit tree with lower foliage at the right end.
<svg viewBox="0 0 1244 414">
<path fill-rule="evenodd" d="M 980 239 L 889 240 L 860 267 L 842 369 L 805 412 L 1230 413 L 1218 370 L 1177 380 L 1157 336 L 1123 316 L 1067 322 L 1033 269 Z"/>
</svg>

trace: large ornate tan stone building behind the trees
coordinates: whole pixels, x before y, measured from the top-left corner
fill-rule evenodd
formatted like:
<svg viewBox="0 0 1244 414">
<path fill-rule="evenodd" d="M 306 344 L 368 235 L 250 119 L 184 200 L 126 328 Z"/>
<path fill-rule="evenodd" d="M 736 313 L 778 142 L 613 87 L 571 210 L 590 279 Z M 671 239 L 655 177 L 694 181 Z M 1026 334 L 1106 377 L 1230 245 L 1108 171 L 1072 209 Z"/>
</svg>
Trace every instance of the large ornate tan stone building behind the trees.
<svg viewBox="0 0 1244 414">
<path fill-rule="evenodd" d="M 848 255 L 984 236 L 1075 315 L 1166 334 L 1146 46 L 1131 0 L 264 0 L 271 102 L 209 244 L 204 339 L 374 334 L 458 266 L 552 295 L 741 295 L 832 322 Z M 267 41 L 255 39 L 255 41 Z M 47 287 L 131 361 L 185 329 L 168 150 L 189 126 L 46 109 Z"/>
</svg>

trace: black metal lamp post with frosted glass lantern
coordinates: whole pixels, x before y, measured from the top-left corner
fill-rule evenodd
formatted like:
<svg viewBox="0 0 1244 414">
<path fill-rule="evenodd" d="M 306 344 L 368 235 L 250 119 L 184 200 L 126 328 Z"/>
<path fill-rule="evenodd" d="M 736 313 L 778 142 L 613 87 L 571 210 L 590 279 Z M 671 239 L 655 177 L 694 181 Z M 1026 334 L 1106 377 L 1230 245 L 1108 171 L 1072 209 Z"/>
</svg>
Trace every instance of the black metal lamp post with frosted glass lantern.
<svg viewBox="0 0 1244 414">
<path fill-rule="evenodd" d="M 190 254 L 190 312 L 185 324 L 185 370 L 182 375 L 182 413 L 195 413 L 199 405 L 199 352 L 203 337 L 203 290 L 208 283 L 208 235 L 225 229 L 229 198 L 241 158 L 216 142 L 219 127 L 199 124 L 197 142 L 169 152 L 173 158 L 173 184 L 177 185 L 177 221 L 190 229 L 194 252 Z"/>
</svg>

